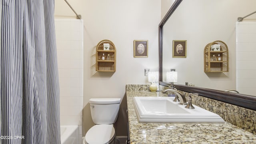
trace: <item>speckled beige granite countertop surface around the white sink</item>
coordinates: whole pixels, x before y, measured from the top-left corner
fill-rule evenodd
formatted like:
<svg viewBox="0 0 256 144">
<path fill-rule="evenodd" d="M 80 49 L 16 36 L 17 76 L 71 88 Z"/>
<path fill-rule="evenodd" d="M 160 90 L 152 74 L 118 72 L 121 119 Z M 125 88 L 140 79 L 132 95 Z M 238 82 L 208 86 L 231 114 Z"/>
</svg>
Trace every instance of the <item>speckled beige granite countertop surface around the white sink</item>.
<svg viewBox="0 0 256 144">
<path fill-rule="evenodd" d="M 127 90 L 131 144 L 256 144 L 256 135 L 228 122 L 224 124 L 138 123 L 134 96 L 166 96 L 148 90 Z"/>
</svg>

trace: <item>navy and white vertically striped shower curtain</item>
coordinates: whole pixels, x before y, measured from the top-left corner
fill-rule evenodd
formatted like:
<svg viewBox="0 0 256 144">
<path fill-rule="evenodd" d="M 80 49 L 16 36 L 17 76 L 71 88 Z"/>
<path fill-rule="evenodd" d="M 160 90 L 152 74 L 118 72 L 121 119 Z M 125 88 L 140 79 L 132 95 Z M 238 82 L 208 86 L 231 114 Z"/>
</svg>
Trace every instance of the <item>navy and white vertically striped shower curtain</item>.
<svg viewBox="0 0 256 144">
<path fill-rule="evenodd" d="M 60 144 L 54 0 L 1 0 L 0 144 Z"/>
</svg>

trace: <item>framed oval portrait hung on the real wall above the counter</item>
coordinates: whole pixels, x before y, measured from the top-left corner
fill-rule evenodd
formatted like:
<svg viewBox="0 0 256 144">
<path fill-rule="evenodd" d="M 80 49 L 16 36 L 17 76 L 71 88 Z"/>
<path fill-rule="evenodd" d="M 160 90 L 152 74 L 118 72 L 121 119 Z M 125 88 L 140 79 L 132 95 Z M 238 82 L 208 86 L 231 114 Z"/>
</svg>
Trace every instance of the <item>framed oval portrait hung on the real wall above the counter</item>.
<svg viewBox="0 0 256 144">
<path fill-rule="evenodd" d="M 134 40 L 133 41 L 134 58 L 148 57 L 148 40 Z"/>
</svg>

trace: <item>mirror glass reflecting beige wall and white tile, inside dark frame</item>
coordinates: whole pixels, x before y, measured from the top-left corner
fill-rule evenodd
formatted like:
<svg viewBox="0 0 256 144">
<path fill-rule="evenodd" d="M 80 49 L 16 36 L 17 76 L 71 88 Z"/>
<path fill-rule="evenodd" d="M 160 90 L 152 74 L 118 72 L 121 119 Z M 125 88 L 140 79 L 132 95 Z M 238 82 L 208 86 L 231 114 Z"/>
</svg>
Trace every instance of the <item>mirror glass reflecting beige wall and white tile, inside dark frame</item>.
<svg viewBox="0 0 256 144">
<path fill-rule="evenodd" d="M 176 69 L 178 84 L 256 96 L 256 14 L 237 22 L 256 11 L 255 5 L 255 0 L 182 1 L 163 27 L 162 80 Z M 251 23 L 243 27 L 246 22 Z M 172 56 L 173 40 L 186 40 L 185 58 Z M 204 72 L 204 48 L 216 40 L 228 46 L 228 72 Z"/>
</svg>

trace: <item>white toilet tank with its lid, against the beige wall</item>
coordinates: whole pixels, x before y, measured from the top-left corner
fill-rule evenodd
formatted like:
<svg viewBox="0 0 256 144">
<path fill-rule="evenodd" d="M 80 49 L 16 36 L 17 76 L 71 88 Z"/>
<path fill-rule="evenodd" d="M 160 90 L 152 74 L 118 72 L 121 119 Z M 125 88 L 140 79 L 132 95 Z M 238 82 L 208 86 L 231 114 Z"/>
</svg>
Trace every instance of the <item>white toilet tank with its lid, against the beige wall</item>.
<svg viewBox="0 0 256 144">
<path fill-rule="evenodd" d="M 95 124 L 114 124 L 116 122 L 120 98 L 91 98 L 89 100 L 92 121 Z"/>
</svg>

